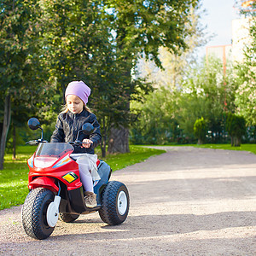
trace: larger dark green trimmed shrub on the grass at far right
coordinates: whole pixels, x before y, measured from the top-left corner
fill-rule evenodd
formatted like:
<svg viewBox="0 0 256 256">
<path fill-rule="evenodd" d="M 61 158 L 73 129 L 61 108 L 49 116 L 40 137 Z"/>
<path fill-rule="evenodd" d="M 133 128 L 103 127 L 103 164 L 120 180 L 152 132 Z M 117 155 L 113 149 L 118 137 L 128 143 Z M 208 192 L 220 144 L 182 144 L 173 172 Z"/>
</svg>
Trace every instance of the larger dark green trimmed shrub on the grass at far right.
<svg viewBox="0 0 256 256">
<path fill-rule="evenodd" d="M 227 131 L 231 137 L 231 145 L 239 147 L 241 145 L 241 137 L 246 133 L 246 120 L 234 113 L 229 113 Z"/>
</svg>

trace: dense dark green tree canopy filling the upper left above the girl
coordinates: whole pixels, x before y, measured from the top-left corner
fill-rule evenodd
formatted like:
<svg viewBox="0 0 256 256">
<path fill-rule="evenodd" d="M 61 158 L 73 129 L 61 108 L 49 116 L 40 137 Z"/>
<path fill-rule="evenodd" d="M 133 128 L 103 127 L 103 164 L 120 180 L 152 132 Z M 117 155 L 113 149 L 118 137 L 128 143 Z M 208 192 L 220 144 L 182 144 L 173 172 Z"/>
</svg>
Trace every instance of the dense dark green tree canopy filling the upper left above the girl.
<svg viewBox="0 0 256 256">
<path fill-rule="evenodd" d="M 2 1 L 0 97 L 12 96 L 13 126 L 23 129 L 33 115 L 49 137 L 65 87 L 82 79 L 92 88 L 89 107 L 106 144 L 112 125 L 131 123 L 131 99 L 151 90 L 132 77 L 137 56 L 144 53 L 160 67 L 160 46 L 186 49 L 184 38 L 194 33 L 188 14 L 198 2 Z"/>
</svg>

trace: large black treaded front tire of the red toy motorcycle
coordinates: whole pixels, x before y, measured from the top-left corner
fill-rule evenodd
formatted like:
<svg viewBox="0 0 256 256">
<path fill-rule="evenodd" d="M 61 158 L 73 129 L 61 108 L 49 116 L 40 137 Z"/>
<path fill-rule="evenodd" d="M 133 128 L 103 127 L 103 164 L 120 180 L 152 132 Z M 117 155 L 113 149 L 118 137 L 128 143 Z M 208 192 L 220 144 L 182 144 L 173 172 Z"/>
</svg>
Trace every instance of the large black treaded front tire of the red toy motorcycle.
<svg viewBox="0 0 256 256">
<path fill-rule="evenodd" d="M 32 189 L 26 196 L 22 207 L 21 218 L 23 228 L 28 236 L 45 239 L 55 228 L 49 227 L 46 218 L 47 208 L 54 201 L 54 193 L 49 189 Z"/>
</svg>

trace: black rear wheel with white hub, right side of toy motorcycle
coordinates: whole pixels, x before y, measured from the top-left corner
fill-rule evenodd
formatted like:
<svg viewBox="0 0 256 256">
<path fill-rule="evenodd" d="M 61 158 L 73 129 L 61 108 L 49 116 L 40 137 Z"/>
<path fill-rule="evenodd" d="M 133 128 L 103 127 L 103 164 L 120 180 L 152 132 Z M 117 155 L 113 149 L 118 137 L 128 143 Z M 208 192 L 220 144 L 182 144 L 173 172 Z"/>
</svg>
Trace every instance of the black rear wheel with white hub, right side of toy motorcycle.
<svg viewBox="0 0 256 256">
<path fill-rule="evenodd" d="M 102 190 L 102 209 L 99 210 L 102 221 L 110 224 L 121 224 L 129 212 L 129 193 L 124 183 L 117 181 L 108 182 Z"/>
</svg>

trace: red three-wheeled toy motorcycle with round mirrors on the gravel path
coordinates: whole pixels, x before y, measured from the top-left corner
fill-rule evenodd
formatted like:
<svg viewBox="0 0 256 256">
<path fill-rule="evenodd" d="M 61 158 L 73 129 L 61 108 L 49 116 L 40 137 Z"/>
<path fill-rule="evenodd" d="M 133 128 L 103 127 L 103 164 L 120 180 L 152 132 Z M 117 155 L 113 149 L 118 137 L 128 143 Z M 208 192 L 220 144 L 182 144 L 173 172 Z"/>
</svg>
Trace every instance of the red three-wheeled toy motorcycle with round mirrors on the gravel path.
<svg viewBox="0 0 256 256">
<path fill-rule="evenodd" d="M 84 188 L 80 182 L 79 165 L 70 154 L 73 143 L 47 143 L 38 119 L 29 119 L 32 130 L 42 130 L 41 139 L 28 142 L 38 144 L 36 152 L 27 160 L 29 166 L 29 194 L 22 207 L 21 218 L 28 236 L 45 239 L 55 229 L 58 218 L 73 222 L 79 214 L 98 211 L 102 221 L 116 225 L 125 221 L 129 211 L 129 193 L 124 183 L 108 181 L 111 168 L 106 162 L 97 160 L 101 179 L 94 182 L 98 205 L 88 208 L 84 204 Z M 90 134 L 93 125 L 85 124 L 79 132 Z M 78 134 L 79 137 L 79 134 Z"/>
</svg>

